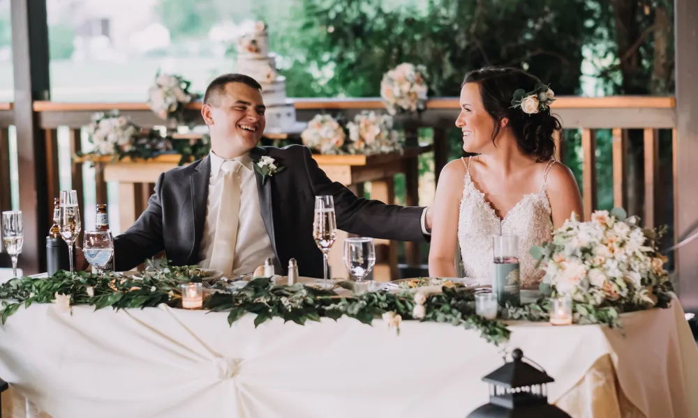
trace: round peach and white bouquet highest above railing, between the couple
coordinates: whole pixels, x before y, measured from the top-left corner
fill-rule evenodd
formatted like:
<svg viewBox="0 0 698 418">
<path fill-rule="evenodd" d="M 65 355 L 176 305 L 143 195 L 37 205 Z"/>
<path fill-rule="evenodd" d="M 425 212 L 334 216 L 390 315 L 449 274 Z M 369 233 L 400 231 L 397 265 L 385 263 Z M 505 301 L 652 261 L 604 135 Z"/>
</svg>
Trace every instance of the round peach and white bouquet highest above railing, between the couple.
<svg viewBox="0 0 698 418">
<path fill-rule="evenodd" d="M 383 98 L 388 113 L 417 113 L 426 107 L 426 86 L 424 65 L 401 63 L 383 75 L 380 82 L 380 97 Z"/>
</svg>

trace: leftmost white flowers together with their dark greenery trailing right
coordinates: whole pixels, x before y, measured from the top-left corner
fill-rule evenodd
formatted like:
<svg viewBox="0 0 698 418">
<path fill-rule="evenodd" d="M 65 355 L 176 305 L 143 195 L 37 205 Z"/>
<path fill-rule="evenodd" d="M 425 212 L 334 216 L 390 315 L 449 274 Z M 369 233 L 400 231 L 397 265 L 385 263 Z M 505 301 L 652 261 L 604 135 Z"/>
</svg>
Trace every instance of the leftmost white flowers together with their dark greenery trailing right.
<svg viewBox="0 0 698 418">
<path fill-rule="evenodd" d="M 172 149 L 170 141 L 159 132 L 144 132 L 128 118 L 120 116 L 119 111 L 94 114 L 92 123 L 87 126 L 87 134 L 94 150 L 80 155 L 114 155 L 119 160 L 124 157 L 147 159 Z"/>
</svg>

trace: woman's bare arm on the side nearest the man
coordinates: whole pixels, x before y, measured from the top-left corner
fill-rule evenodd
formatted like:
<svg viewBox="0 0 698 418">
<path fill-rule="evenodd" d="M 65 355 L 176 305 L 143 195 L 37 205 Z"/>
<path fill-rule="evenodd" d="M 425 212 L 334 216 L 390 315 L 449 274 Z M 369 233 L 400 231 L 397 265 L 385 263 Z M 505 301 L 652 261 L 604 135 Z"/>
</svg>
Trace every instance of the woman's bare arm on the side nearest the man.
<svg viewBox="0 0 698 418">
<path fill-rule="evenodd" d="M 459 204 L 463 194 L 465 167 L 454 160 L 443 168 L 436 187 L 431 212 L 429 276 L 456 277 L 454 258 L 458 240 Z"/>
</svg>

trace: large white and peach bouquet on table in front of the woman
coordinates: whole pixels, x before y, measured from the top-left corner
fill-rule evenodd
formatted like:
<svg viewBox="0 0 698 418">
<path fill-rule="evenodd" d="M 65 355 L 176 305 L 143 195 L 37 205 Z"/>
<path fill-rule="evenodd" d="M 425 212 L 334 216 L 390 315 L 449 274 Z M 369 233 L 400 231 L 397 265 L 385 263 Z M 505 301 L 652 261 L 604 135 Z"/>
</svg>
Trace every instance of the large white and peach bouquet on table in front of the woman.
<svg viewBox="0 0 698 418">
<path fill-rule="evenodd" d="M 530 253 L 545 271 L 542 288 L 572 299 L 575 322 L 618 325 L 619 314 L 666 308 L 674 297 L 667 259 L 658 252 L 662 233 L 642 229 L 623 209 L 597 210 L 588 222 L 572 216 Z M 514 318 L 546 312 L 545 306 L 510 308 Z"/>
</svg>

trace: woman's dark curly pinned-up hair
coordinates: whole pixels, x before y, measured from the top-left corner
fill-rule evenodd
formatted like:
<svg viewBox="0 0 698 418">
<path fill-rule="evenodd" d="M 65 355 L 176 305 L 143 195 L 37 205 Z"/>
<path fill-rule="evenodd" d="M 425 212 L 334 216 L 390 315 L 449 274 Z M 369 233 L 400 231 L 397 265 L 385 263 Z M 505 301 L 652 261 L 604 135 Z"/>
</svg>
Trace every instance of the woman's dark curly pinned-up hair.
<svg viewBox="0 0 698 418">
<path fill-rule="evenodd" d="M 485 67 L 468 72 L 463 86 L 467 83 L 480 85 L 482 104 L 494 121 L 493 142 L 499 134 L 500 122 L 508 118 L 508 126 L 516 135 L 523 153 L 535 156 L 537 161 L 551 159 L 555 152 L 553 133 L 560 130 L 562 138 L 562 125 L 558 118 L 550 114 L 550 108 L 539 109 L 537 114 L 526 114 L 521 107 L 512 108 L 514 91 L 519 88 L 533 91 L 535 85 L 540 83 L 538 77 L 518 68 Z"/>
</svg>

